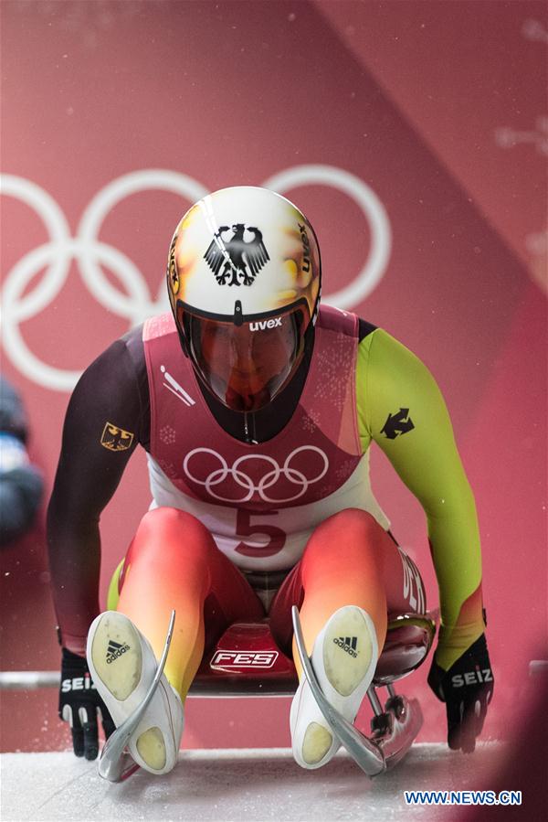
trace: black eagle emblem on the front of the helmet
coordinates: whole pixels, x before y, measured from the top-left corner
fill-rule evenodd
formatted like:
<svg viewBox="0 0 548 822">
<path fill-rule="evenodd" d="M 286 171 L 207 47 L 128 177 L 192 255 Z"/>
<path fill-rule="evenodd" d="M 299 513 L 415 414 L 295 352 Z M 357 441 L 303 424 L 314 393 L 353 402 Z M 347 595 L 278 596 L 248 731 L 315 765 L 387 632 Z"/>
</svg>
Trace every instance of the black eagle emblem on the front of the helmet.
<svg viewBox="0 0 548 822">
<path fill-rule="evenodd" d="M 223 234 L 229 230 L 229 226 L 221 226 L 216 232 L 205 251 L 205 262 L 219 285 L 251 285 L 270 259 L 262 232 L 255 226 L 248 226 L 254 237 L 253 240 L 244 240 L 246 226 L 238 222 L 232 226 L 230 240 L 225 240 Z"/>
</svg>

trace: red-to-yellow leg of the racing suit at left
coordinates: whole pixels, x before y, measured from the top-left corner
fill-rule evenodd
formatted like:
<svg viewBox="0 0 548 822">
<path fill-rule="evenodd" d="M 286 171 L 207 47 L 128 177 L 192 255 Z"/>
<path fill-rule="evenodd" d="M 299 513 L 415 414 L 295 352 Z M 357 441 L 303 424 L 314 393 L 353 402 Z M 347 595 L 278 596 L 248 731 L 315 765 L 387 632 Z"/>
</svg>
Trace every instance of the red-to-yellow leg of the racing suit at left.
<svg viewBox="0 0 548 822">
<path fill-rule="evenodd" d="M 264 609 L 237 567 L 195 517 L 155 508 L 141 520 L 121 575 L 118 610 L 132 619 L 160 657 L 172 610 L 175 627 L 165 675 L 186 697 L 204 653 L 237 619 Z"/>
</svg>

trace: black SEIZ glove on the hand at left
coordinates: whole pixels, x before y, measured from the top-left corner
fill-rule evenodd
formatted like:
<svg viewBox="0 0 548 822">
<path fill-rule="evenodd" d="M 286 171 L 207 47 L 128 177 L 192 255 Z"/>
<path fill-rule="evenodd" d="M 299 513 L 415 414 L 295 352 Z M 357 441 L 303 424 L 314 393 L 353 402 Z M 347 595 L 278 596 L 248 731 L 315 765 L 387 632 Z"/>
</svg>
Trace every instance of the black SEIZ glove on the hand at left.
<svg viewBox="0 0 548 822">
<path fill-rule="evenodd" d="M 98 714 L 105 739 L 115 729 L 111 714 L 100 698 L 86 657 L 79 657 L 63 648 L 61 660 L 61 687 L 59 690 L 59 718 L 69 722 L 72 745 L 77 756 L 97 759 L 99 753 Z"/>
</svg>

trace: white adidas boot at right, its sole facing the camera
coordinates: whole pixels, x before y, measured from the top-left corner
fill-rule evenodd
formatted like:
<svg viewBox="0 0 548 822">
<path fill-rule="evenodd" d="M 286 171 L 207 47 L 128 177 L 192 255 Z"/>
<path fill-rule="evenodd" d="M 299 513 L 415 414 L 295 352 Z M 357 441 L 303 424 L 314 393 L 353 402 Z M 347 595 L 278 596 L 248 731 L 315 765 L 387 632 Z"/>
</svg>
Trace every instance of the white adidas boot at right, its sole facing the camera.
<svg viewBox="0 0 548 822">
<path fill-rule="evenodd" d="M 378 658 L 374 623 L 357 605 L 335 611 L 316 637 L 311 664 L 333 708 L 353 722 L 371 685 Z M 304 675 L 291 703 L 293 757 L 302 768 L 321 768 L 341 743 L 334 737 Z"/>
</svg>

